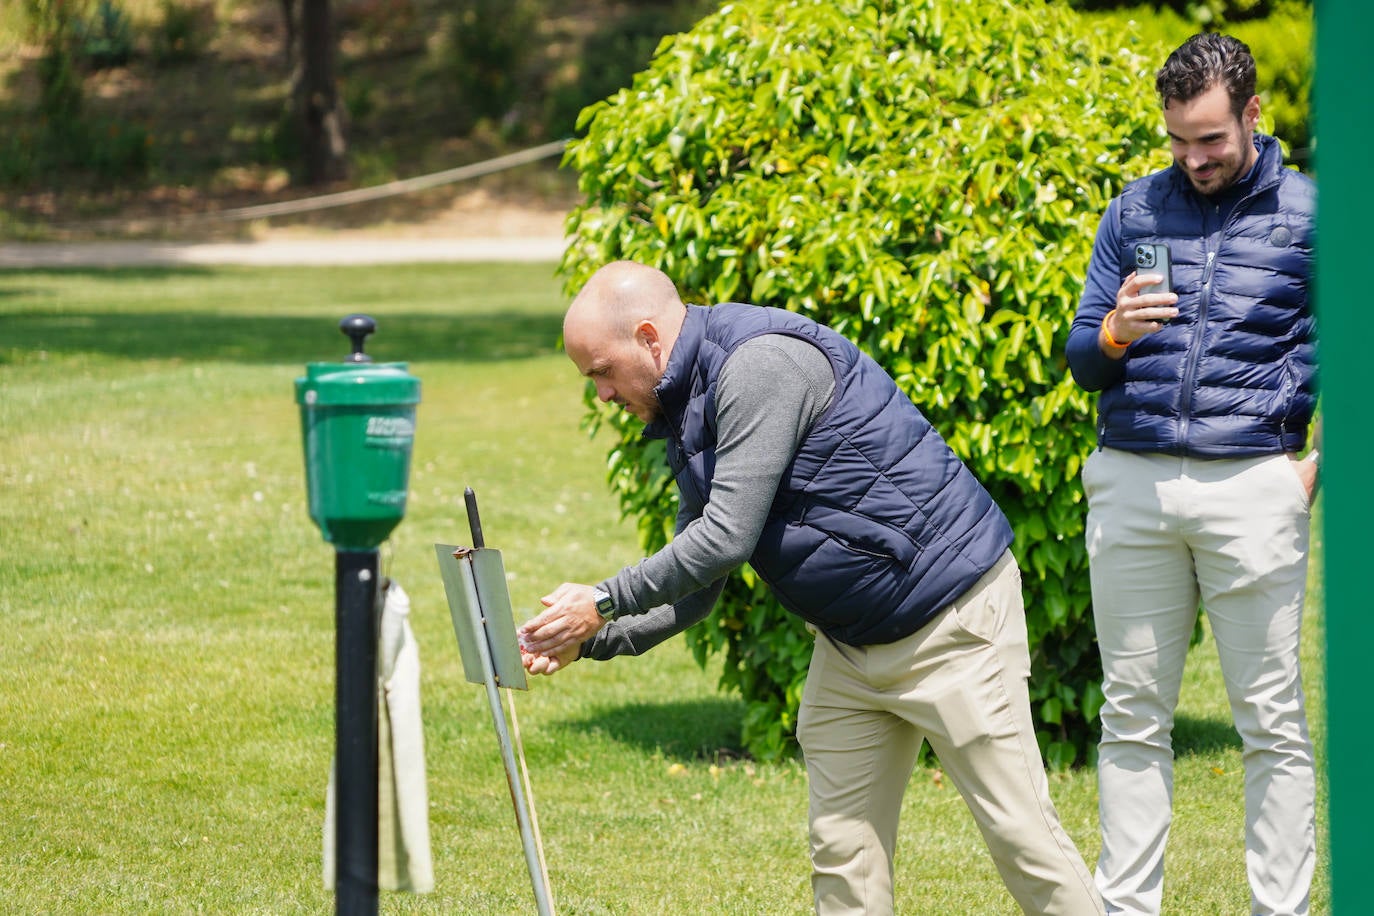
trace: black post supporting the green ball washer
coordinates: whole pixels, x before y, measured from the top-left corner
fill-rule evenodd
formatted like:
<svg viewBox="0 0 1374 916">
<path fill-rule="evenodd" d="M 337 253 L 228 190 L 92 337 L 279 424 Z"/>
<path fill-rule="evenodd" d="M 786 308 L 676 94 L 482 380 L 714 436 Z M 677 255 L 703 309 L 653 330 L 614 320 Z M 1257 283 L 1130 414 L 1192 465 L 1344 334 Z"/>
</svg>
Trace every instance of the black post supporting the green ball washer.
<svg viewBox="0 0 1374 916">
<path fill-rule="evenodd" d="M 376 551 L 334 564 L 334 912 L 376 913 Z"/>
</svg>

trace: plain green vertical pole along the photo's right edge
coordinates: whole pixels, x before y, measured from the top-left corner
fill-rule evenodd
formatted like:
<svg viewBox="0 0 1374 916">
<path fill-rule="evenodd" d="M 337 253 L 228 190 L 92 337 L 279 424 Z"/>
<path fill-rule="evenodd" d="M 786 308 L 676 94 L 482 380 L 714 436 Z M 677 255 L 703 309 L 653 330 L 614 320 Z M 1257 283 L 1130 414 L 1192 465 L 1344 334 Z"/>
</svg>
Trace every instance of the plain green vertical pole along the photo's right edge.
<svg viewBox="0 0 1374 916">
<path fill-rule="evenodd" d="M 1326 709 L 1330 776 L 1331 911 L 1370 912 L 1374 861 L 1374 721 L 1370 680 L 1374 544 L 1370 448 L 1370 332 L 1374 262 L 1374 128 L 1367 0 L 1316 3 L 1316 309 L 1320 334 L 1322 474 L 1326 494 Z"/>
</svg>

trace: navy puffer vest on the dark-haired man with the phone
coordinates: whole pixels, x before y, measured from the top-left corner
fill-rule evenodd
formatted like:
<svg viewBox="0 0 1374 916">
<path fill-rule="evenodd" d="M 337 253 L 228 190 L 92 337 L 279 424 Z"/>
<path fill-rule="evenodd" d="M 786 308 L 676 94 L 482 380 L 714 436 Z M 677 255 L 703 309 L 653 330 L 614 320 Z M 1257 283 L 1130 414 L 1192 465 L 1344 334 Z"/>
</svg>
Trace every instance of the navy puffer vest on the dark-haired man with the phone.
<svg viewBox="0 0 1374 916">
<path fill-rule="evenodd" d="M 1165 242 L 1179 317 L 1131 345 L 1098 401 L 1098 441 L 1134 452 L 1243 457 L 1297 452 L 1316 404 L 1308 308 L 1316 188 L 1256 135 L 1254 183 L 1221 222 L 1169 168 L 1121 194 L 1121 276 L 1135 244 Z"/>
</svg>

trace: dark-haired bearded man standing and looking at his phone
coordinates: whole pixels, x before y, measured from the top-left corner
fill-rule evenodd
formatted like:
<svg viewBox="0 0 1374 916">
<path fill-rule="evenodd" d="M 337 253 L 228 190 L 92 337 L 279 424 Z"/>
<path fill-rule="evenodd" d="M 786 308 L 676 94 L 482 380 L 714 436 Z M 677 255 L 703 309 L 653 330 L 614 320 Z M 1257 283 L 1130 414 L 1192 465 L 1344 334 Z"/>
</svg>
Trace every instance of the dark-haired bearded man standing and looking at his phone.
<svg viewBox="0 0 1374 916">
<path fill-rule="evenodd" d="M 1074 379 L 1101 391 L 1083 467 L 1105 694 L 1096 883 L 1109 913 L 1160 912 L 1173 710 L 1201 603 L 1245 746 L 1250 912 L 1307 913 L 1298 641 L 1316 449 L 1300 455 L 1316 401 L 1316 191 L 1254 132 L 1241 41 L 1194 36 L 1156 91 L 1173 165 L 1107 206 L 1068 342 Z"/>
</svg>

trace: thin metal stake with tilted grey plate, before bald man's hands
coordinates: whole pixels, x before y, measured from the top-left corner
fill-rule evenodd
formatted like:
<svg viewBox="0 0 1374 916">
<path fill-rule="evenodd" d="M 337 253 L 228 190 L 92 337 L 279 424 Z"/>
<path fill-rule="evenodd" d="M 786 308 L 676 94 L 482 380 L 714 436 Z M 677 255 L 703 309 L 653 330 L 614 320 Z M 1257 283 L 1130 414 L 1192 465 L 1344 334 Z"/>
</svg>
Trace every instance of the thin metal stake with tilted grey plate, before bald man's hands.
<svg viewBox="0 0 1374 916">
<path fill-rule="evenodd" d="M 529 792 L 525 779 L 525 754 L 519 746 L 518 732 L 513 740 L 499 689 L 502 687 L 528 689 L 525 666 L 521 663 L 519 645 L 515 640 L 515 617 L 506 589 L 506 569 L 500 551 L 485 545 L 481 518 L 477 514 L 477 496 L 471 488 L 464 493 L 464 500 L 473 547 L 436 544 L 434 553 L 444 577 L 453 633 L 458 636 L 459 654 L 463 656 L 464 677 L 486 688 L 486 702 L 492 709 L 492 722 L 506 765 L 506 783 L 515 806 L 534 904 L 540 916 L 552 916 L 552 893 L 544 868 L 533 792 Z M 514 713 L 514 705 L 511 711 Z"/>
</svg>

